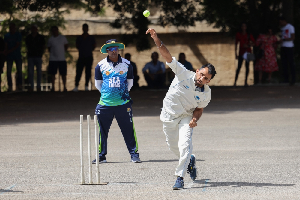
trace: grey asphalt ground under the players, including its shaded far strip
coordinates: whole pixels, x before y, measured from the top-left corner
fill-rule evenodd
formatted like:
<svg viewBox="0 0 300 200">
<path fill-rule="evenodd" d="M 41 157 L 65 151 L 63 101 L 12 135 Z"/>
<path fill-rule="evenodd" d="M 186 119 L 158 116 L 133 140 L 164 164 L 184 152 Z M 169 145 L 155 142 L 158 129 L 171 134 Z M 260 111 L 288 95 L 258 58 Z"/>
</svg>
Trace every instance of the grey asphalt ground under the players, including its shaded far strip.
<svg viewBox="0 0 300 200">
<path fill-rule="evenodd" d="M 142 163 L 130 162 L 114 120 L 100 165 L 109 183 L 83 186 L 72 185 L 80 182 L 79 115 L 88 181 L 86 116 L 93 122 L 99 92 L 0 94 L 0 199 L 300 199 L 300 87 L 211 90 L 193 133 L 198 177 L 187 174 L 183 190 L 172 189 L 178 158 L 159 119 L 166 90 L 130 92 Z"/>
</svg>

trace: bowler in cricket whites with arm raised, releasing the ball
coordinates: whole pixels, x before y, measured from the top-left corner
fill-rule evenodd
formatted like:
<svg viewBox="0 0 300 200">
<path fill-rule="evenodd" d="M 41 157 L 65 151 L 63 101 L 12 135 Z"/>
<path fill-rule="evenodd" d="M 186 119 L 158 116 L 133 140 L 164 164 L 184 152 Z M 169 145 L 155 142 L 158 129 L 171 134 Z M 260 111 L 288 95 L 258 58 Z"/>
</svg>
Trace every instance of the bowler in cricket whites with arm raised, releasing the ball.
<svg viewBox="0 0 300 200">
<path fill-rule="evenodd" d="M 183 189 L 187 171 L 192 180 L 197 177 L 196 155 L 192 154 L 193 128 L 197 126 L 203 108 L 210 102 L 211 90 L 207 84 L 217 73 L 210 63 L 197 69 L 196 73 L 187 70 L 171 56 L 154 29 L 148 29 L 147 33 L 151 34 L 166 64 L 176 74 L 164 98 L 160 119 L 169 149 L 179 157 L 173 189 Z"/>
</svg>

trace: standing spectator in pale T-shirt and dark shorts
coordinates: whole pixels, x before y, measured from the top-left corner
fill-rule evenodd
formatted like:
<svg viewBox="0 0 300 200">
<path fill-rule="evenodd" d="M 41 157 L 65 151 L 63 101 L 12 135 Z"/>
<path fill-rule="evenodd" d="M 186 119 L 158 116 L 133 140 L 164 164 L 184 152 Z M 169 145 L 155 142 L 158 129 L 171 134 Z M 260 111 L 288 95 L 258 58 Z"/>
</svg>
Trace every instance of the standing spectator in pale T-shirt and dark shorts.
<svg viewBox="0 0 300 200">
<path fill-rule="evenodd" d="M 52 36 L 48 40 L 48 50 L 50 52 L 48 73 L 51 74 L 51 91 L 54 91 L 55 74 L 58 68 L 64 84 L 64 92 L 66 92 L 67 62 L 65 52 L 69 47 L 68 41 L 63 35 L 59 35 L 57 26 L 52 26 L 51 32 Z"/>
</svg>

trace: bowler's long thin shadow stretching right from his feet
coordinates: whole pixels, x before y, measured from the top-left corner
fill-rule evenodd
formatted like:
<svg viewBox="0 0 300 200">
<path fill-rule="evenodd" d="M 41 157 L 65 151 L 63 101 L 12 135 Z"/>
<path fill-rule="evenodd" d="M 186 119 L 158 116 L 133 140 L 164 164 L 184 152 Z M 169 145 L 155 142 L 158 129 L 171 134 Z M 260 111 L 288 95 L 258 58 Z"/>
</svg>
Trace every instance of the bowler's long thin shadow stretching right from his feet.
<svg viewBox="0 0 300 200">
<path fill-rule="evenodd" d="M 193 183 L 205 184 L 201 187 L 191 187 L 191 188 L 209 188 L 209 187 L 221 187 L 221 186 L 253 186 L 253 187 L 277 187 L 277 186 L 293 186 L 295 184 L 273 184 L 273 183 L 249 183 L 249 182 L 209 182 L 209 179 L 194 180 Z"/>
</svg>

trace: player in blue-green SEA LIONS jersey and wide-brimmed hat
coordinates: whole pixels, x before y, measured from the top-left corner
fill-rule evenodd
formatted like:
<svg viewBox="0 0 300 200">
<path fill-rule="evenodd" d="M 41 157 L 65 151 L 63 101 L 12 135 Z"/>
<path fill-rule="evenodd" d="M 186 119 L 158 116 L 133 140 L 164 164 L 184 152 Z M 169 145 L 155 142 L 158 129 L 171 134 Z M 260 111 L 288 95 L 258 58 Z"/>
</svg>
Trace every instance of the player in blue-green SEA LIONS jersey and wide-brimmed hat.
<svg viewBox="0 0 300 200">
<path fill-rule="evenodd" d="M 114 39 L 108 40 L 101 47 L 101 53 L 108 56 L 95 68 L 95 86 L 101 92 L 96 107 L 100 130 L 99 163 L 107 162 L 107 136 L 114 117 L 125 139 L 131 162 L 141 162 L 137 153 L 139 146 L 132 117 L 132 100 L 129 96 L 129 90 L 134 83 L 133 67 L 130 61 L 119 55 L 119 49 L 125 49 L 125 45 Z M 92 163 L 96 164 L 96 159 Z"/>
</svg>

